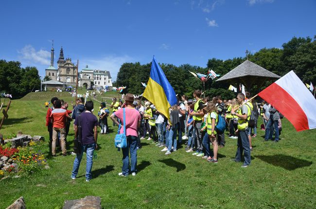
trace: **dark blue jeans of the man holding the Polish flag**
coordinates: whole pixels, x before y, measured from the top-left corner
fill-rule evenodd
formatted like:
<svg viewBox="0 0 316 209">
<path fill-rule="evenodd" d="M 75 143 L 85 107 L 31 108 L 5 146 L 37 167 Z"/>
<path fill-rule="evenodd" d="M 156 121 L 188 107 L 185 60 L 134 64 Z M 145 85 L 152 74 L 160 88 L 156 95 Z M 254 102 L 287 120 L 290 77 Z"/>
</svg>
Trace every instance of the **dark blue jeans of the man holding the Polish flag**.
<svg viewBox="0 0 316 209">
<path fill-rule="evenodd" d="M 242 155 L 244 151 L 244 158 L 245 158 L 245 165 L 249 165 L 251 158 L 250 158 L 250 148 L 249 148 L 249 139 L 248 135 L 245 131 L 238 131 L 238 139 L 237 139 L 237 151 L 236 151 L 236 161 L 242 160 Z"/>
</svg>

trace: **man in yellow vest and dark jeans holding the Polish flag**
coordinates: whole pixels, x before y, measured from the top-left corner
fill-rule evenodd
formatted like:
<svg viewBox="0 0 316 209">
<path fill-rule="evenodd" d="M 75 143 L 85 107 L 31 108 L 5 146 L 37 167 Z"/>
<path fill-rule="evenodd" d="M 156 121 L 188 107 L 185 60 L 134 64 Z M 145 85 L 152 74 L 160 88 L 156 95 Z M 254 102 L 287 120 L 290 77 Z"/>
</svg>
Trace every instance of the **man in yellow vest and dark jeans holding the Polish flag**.
<svg viewBox="0 0 316 209">
<path fill-rule="evenodd" d="M 250 119 L 250 108 L 245 103 L 245 95 L 243 93 L 239 93 L 237 95 L 237 103 L 242 104 L 241 107 L 238 108 L 237 112 L 235 109 L 231 110 L 231 114 L 238 117 L 238 140 L 237 140 L 237 151 L 235 162 L 241 162 L 242 155 L 244 152 L 244 164 L 242 165 L 243 168 L 246 168 L 250 165 L 250 147 L 249 147 L 249 140 L 246 134 L 246 128 L 248 128 L 248 120 Z"/>
</svg>

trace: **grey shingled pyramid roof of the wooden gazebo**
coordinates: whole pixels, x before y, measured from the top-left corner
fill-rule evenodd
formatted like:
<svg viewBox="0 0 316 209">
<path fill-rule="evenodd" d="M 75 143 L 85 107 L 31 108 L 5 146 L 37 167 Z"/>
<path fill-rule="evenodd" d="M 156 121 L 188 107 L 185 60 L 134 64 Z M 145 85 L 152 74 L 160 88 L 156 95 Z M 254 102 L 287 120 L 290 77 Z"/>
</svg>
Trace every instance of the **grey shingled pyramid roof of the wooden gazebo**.
<svg viewBox="0 0 316 209">
<path fill-rule="evenodd" d="M 233 70 L 230 70 L 223 77 L 217 79 L 216 81 L 224 81 L 233 78 L 240 78 L 244 76 L 257 76 L 265 78 L 281 78 L 279 75 L 264 69 L 263 67 L 246 60 Z"/>
</svg>

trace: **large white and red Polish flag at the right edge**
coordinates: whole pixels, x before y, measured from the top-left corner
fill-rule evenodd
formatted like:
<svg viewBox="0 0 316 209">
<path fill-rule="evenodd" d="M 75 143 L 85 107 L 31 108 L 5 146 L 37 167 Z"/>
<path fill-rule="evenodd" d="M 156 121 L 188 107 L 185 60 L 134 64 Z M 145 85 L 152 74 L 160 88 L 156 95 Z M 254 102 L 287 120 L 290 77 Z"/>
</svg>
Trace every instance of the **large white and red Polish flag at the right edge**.
<svg viewBox="0 0 316 209">
<path fill-rule="evenodd" d="M 281 112 L 297 131 L 316 128 L 316 99 L 293 70 L 258 95 Z"/>
</svg>

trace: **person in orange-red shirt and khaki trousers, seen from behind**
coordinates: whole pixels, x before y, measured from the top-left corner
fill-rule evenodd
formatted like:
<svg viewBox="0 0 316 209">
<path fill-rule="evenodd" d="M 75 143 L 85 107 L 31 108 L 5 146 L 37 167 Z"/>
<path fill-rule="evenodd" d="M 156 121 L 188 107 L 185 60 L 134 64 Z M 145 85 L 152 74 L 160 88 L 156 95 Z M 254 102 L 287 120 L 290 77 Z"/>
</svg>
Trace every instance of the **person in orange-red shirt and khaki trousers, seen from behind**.
<svg viewBox="0 0 316 209">
<path fill-rule="evenodd" d="M 56 142 L 58 134 L 60 135 L 60 143 L 63 156 L 67 156 L 66 149 L 66 118 L 71 119 L 66 109 L 61 108 L 61 101 L 54 102 L 55 109 L 51 113 L 51 122 L 53 123 L 53 142 L 52 142 L 52 155 L 56 156 Z"/>
</svg>

